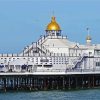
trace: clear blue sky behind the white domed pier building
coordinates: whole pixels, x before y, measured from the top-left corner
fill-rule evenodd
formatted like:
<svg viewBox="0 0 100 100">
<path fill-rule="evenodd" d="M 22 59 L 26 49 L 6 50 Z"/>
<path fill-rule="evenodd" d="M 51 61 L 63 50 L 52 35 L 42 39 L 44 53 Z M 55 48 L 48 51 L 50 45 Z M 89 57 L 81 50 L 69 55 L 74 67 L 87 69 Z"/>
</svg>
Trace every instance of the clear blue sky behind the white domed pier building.
<svg viewBox="0 0 100 100">
<path fill-rule="evenodd" d="M 17 53 L 45 34 L 51 16 L 62 34 L 85 44 L 86 28 L 100 43 L 100 0 L 0 0 L 0 53 Z"/>
</svg>

